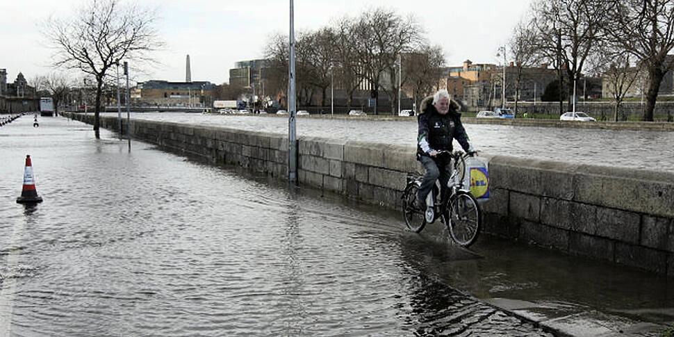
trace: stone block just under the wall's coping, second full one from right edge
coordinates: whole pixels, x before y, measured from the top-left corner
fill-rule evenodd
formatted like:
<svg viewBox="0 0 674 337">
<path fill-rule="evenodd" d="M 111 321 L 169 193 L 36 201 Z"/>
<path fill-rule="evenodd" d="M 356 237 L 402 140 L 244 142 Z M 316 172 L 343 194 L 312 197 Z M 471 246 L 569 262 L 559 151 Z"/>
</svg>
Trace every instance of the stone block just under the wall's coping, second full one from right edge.
<svg viewBox="0 0 674 337">
<path fill-rule="evenodd" d="M 632 212 L 614 208 L 597 209 L 597 235 L 634 245 L 639 243 L 641 217 Z"/>
</svg>

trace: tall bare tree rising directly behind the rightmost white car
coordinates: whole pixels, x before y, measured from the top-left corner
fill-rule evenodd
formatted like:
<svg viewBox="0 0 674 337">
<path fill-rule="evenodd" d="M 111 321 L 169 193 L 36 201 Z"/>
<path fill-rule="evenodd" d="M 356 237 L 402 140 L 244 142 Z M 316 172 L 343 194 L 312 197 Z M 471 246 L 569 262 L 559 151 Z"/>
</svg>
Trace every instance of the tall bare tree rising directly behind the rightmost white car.
<svg viewBox="0 0 674 337">
<path fill-rule="evenodd" d="M 562 74 L 566 75 L 568 92 L 573 90 L 573 82 L 580 79 L 586 59 L 602 40 L 602 27 L 609 25 L 608 10 L 607 0 L 539 0 L 532 7 L 532 24 L 539 31 L 536 48 L 555 64 L 560 83 Z M 568 106 L 571 104 L 568 101 Z M 561 109 L 560 103 L 563 113 Z"/>
</svg>

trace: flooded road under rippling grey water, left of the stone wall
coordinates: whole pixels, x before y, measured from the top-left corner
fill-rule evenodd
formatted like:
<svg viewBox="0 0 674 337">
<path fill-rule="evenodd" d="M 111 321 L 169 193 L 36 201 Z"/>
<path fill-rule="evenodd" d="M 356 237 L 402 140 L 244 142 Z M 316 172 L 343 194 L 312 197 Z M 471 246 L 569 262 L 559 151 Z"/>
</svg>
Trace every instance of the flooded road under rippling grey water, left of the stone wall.
<svg viewBox="0 0 674 337">
<path fill-rule="evenodd" d="M 0 336 L 657 336 L 674 285 L 215 167 L 63 117 L 0 129 Z M 24 160 L 42 204 L 16 204 Z M 536 322 L 536 323 L 532 323 Z"/>
</svg>

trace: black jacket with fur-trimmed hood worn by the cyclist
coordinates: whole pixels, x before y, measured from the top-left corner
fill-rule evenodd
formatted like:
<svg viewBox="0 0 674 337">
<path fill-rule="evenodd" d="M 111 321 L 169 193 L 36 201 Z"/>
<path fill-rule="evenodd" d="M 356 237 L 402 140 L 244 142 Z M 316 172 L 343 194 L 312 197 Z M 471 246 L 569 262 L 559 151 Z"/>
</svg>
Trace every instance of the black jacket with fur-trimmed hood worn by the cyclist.
<svg viewBox="0 0 674 337">
<path fill-rule="evenodd" d="M 472 150 L 466 129 L 461 124 L 459 104 L 450 99 L 450 110 L 441 115 L 433 105 L 433 97 L 426 97 L 421 102 L 417 116 L 419 133 L 417 138 L 417 159 L 429 156 L 431 150 L 452 151 L 452 140 L 456 139 L 464 151 Z"/>
</svg>

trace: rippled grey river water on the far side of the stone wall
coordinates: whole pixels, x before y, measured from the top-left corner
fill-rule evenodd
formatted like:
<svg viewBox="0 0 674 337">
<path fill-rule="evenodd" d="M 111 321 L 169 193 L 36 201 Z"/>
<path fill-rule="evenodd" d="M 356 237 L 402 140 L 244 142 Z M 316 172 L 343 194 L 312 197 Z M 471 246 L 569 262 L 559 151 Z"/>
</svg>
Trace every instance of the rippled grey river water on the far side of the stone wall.
<svg viewBox="0 0 674 337">
<path fill-rule="evenodd" d="M 106 115 L 116 116 L 117 113 Z M 226 126 L 288 135 L 287 116 L 132 113 L 131 118 Z M 464 126 L 475 147 L 487 154 L 674 172 L 674 132 L 498 124 Z M 414 146 L 417 123 L 414 117 L 390 121 L 298 117 L 297 135 Z"/>
</svg>

